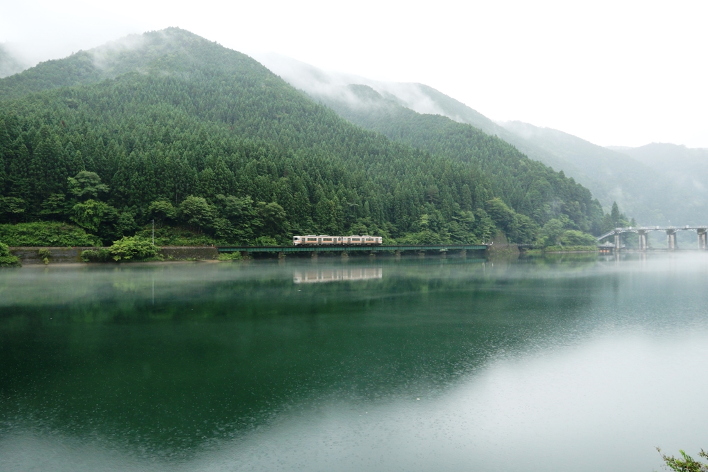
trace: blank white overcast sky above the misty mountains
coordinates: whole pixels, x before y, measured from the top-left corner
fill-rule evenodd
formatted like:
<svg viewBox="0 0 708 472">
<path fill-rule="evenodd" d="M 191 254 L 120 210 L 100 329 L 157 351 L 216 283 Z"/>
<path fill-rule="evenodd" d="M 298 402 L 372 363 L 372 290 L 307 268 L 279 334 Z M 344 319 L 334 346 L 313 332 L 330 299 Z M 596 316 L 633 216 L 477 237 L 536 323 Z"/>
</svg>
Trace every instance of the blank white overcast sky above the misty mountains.
<svg viewBox="0 0 708 472">
<path fill-rule="evenodd" d="M 707 20 L 704 0 L 0 0 L 0 42 L 36 62 L 179 26 L 599 145 L 708 147 Z"/>
</svg>

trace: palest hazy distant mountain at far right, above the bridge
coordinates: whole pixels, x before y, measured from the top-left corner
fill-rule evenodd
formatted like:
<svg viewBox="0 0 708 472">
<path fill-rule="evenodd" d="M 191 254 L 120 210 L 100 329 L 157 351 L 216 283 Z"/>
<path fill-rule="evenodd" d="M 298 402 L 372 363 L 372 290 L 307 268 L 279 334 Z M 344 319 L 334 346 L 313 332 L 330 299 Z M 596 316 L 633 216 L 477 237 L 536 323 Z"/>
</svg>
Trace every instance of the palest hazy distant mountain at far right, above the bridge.
<svg viewBox="0 0 708 472">
<path fill-rule="evenodd" d="M 677 145 L 600 147 L 579 137 L 528 123 L 502 123 L 533 145 L 564 159 L 568 174 L 617 201 L 640 223 L 706 224 L 708 151 Z"/>
</svg>

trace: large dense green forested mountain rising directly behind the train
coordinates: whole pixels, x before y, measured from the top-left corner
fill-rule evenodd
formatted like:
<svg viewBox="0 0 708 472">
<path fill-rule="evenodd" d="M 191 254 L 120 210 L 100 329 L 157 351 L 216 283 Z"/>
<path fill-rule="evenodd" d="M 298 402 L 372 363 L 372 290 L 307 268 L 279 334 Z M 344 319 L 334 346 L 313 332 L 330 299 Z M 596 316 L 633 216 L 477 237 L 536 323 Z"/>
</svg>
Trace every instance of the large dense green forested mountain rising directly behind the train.
<svg viewBox="0 0 708 472">
<path fill-rule="evenodd" d="M 73 222 L 104 241 L 152 218 L 216 242 L 600 230 L 587 189 L 496 137 L 452 120 L 399 133 L 428 125 L 450 140 L 394 142 L 246 55 L 178 28 L 146 33 L 0 80 L 1 218 Z"/>
</svg>

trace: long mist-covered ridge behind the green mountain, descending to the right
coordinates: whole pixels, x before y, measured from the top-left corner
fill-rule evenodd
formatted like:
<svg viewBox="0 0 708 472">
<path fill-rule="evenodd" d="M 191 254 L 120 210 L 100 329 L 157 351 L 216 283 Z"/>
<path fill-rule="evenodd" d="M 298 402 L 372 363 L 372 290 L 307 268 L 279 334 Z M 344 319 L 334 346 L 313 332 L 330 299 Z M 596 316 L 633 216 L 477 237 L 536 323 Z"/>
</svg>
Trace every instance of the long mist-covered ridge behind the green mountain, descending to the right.
<svg viewBox="0 0 708 472">
<path fill-rule="evenodd" d="M 702 208 L 707 206 L 708 198 L 695 186 L 695 179 L 690 181 L 687 173 L 679 174 L 670 164 L 664 168 L 656 167 L 651 164 L 651 159 L 645 162 L 636 159 L 634 154 L 630 157 L 550 128 L 518 121 L 495 123 L 464 103 L 423 84 L 381 82 L 325 72 L 279 55 L 259 55 L 258 59 L 290 84 L 328 103 L 341 116 L 366 128 L 382 130 L 374 125 L 375 122 L 387 128 L 391 125 L 376 117 L 380 114 L 380 106 L 372 108 L 370 97 L 355 94 L 355 84 L 370 86 L 382 99 L 411 111 L 447 116 L 496 135 L 531 159 L 573 177 L 590 189 L 604 208 L 611 208 L 616 201 L 640 223 L 666 224 L 669 220 L 700 223 L 704 220 Z M 370 112 L 373 115 L 367 117 Z M 410 116 L 399 113 L 399 116 L 404 115 Z M 671 155 L 678 159 L 676 150 Z M 657 162 L 666 164 L 671 159 L 660 158 Z M 676 185 L 678 182 L 681 182 L 680 186 Z"/>
</svg>

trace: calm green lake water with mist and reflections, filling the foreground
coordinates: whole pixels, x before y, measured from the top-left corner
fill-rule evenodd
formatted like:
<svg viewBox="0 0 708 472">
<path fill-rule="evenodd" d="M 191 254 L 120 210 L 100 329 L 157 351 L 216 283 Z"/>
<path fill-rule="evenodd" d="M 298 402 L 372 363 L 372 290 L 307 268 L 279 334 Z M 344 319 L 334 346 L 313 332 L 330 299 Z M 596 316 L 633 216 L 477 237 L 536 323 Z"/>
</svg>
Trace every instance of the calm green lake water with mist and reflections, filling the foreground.
<svg viewBox="0 0 708 472">
<path fill-rule="evenodd" d="M 660 470 L 707 309 L 699 253 L 1 270 L 0 470 Z"/>
</svg>

